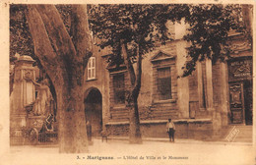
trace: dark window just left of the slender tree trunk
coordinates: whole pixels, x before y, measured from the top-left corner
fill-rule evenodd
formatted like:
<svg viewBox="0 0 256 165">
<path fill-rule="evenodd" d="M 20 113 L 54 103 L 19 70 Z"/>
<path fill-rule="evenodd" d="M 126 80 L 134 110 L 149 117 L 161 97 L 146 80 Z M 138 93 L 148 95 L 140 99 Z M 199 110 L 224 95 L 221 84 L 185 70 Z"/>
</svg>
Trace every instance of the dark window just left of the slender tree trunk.
<svg viewBox="0 0 256 165">
<path fill-rule="evenodd" d="M 124 74 L 113 76 L 114 103 L 125 103 Z"/>
</svg>

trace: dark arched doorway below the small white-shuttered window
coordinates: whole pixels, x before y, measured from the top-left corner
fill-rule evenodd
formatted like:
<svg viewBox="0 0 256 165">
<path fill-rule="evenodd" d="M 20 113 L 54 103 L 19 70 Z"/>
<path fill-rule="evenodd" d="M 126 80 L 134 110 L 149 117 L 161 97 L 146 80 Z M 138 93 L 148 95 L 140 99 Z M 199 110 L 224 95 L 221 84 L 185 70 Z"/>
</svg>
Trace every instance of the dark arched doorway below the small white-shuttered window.
<svg viewBox="0 0 256 165">
<path fill-rule="evenodd" d="M 93 137 L 98 137 L 102 130 L 102 95 L 96 87 L 89 88 L 85 93 L 86 120 L 92 125 Z"/>
</svg>

